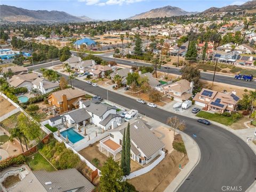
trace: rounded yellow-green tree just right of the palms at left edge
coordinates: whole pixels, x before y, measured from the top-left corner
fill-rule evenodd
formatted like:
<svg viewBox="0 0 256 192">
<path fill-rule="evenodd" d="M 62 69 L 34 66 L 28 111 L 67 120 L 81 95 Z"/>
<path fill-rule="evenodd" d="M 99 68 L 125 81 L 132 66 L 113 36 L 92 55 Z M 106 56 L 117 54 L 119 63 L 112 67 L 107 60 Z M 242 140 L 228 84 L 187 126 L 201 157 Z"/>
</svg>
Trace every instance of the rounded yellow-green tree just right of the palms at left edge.
<svg viewBox="0 0 256 192">
<path fill-rule="evenodd" d="M 40 140 L 41 129 L 37 122 L 29 119 L 26 115 L 21 113 L 18 115 L 18 127 L 25 134 L 29 140 L 38 138 Z"/>
</svg>

